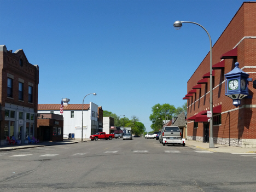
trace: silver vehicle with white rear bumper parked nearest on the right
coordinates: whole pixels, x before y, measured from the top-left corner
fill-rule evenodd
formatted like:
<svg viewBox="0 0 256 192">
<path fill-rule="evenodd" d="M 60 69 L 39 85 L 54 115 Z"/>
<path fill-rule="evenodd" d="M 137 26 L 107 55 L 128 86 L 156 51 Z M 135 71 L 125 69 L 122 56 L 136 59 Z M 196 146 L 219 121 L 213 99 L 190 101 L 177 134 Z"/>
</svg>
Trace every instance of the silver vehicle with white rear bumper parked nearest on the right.
<svg viewBox="0 0 256 192">
<path fill-rule="evenodd" d="M 177 126 L 165 126 L 162 128 L 159 142 L 165 144 L 182 144 L 185 146 L 185 139 L 182 139 L 181 130 Z"/>
</svg>

